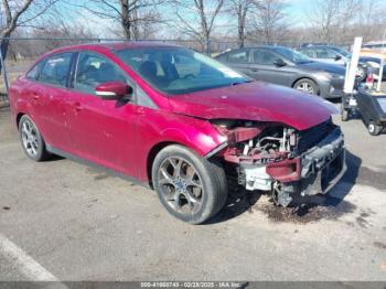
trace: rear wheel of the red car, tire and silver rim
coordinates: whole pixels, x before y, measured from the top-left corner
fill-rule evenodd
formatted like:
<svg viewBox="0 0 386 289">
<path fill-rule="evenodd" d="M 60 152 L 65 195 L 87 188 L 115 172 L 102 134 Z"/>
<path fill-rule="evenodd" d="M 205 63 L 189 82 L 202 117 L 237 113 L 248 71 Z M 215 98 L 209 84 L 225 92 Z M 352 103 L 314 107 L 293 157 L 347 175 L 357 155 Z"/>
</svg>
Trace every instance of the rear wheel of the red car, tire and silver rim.
<svg viewBox="0 0 386 289">
<path fill-rule="evenodd" d="M 45 142 L 33 120 L 24 115 L 19 121 L 19 135 L 21 146 L 26 154 L 33 161 L 44 161 L 49 159 L 50 153 L 45 149 Z"/>
</svg>

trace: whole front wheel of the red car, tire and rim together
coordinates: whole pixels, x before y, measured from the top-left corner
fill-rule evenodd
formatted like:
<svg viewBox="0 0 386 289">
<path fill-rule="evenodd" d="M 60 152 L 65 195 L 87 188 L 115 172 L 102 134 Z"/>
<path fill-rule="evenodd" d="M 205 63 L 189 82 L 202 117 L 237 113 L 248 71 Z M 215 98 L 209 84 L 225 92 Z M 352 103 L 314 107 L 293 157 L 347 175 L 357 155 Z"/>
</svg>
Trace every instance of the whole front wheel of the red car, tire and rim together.
<svg viewBox="0 0 386 289">
<path fill-rule="evenodd" d="M 201 224 L 214 216 L 227 199 L 227 182 L 221 164 L 178 144 L 157 154 L 152 182 L 168 212 L 191 224 Z"/>
</svg>

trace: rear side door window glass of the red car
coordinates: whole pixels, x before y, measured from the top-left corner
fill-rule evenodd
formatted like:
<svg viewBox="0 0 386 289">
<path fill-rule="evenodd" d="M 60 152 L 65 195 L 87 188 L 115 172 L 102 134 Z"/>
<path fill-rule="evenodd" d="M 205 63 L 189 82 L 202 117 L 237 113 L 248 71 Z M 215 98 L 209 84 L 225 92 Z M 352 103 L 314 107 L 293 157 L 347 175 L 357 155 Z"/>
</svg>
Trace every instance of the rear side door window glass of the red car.
<svg viewBox="0 0 386 289">
<path fill-rule="evenodd" d="M 61 53 L 46 58 L 37 81 L 57 86 L 66 86 L 72 57 L 73 53 Z"/>
</svg>

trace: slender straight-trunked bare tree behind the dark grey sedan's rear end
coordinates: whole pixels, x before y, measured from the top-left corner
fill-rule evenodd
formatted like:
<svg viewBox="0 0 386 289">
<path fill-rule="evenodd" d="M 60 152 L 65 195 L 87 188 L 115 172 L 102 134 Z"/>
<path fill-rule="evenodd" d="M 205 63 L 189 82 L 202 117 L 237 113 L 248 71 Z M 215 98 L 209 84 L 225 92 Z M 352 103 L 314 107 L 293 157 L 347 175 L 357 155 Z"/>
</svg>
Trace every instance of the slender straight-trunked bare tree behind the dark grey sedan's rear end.
<svg viewBox="0 0 386 289">
<path fill-rule="evenodd" d="M 247 17 L 253 12 L 254 8 L 258 7 L 256 0 L 230 0 L 229 14 L 237 18 L 237 39 L 239 47 L 244 47 L 247 38 Z"/>
</svg>

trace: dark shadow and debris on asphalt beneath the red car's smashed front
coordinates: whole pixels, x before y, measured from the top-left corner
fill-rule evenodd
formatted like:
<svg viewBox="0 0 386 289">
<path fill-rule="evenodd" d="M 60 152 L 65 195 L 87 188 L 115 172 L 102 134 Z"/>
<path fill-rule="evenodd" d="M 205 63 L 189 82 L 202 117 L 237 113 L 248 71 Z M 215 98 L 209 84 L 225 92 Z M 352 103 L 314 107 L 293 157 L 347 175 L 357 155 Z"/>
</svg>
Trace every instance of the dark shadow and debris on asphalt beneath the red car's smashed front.
<svg viewBox="0 0 386 289">
<path fill-rule="evenodd" d="M 344 199 L 356 183 L 362 160 L 347 151 L 346 163 L 347 172 L 330 193 L 296 197 L 288 207 L 274 205 L 270 196 L 262 192 L 249 192 L 238 185 L 230 184 L 226 205 L 207 224 L 226 222 L 246 212 L 264 213 L 274 222 L 304 224 L 320 220 L 336 220 L 356 208 Z"/>
</svg>

